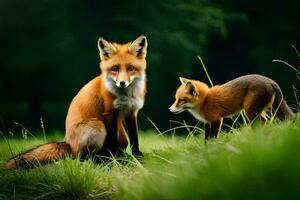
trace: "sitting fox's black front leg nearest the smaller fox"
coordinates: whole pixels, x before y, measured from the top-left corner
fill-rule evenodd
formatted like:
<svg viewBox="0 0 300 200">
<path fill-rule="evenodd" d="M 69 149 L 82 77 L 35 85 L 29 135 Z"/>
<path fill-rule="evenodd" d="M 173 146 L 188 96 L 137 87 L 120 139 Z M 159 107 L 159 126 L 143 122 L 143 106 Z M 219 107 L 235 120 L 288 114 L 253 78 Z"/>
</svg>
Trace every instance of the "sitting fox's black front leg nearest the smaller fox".
<svg viewBox="0 0 300 200">
<path fill-rule="evenodd" d="M 125 116 L 125 124 L 128 130 L 132 154 L 136 156 L 143 156 L 143 153 L 139 149 L 137 112 Z"/>
</svg>

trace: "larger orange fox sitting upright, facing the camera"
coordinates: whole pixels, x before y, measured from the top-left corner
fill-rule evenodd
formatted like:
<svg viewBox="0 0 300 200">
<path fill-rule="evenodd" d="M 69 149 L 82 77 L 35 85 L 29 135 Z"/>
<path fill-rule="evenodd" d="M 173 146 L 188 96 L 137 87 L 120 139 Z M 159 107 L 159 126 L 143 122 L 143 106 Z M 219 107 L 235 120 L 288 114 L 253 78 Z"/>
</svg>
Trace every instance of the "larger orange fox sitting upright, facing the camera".
<svg viewBox="0 0 300 200">
<path fill-rule="evenodd" d="M 142 156 L 137 114 L 146 93 L 147 39 L 127 44 L 98 40 L 101 74 L 87 83 L 72 100 L 66 118 L 65 142 L 51 142 L 8 160 L 6 168 L 47 163 L 71 155 L 115 154 L 128 145 Z"/>
</svg>

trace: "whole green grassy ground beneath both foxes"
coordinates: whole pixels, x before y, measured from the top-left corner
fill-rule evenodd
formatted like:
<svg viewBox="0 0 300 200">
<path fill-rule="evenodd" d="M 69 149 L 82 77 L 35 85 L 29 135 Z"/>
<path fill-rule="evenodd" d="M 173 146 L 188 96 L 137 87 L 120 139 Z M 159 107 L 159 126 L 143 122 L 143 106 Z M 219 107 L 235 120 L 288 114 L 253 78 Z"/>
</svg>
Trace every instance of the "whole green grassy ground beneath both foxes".
<svg viewBox="0 0 300 200">
<path fill-rule="evenodd" d="M 188 131 L 186 131 L 188 132 Z M 63 135 L 47 135 L 47 141 Z M 0 199 L 300 199 L 300 120 L 248 126 L 203 143 L 203 134 L 140 133 L 141 160 L 99 164 L 65 159 L 31 170 L 6 170 L 0 142 Z M 43 137 L 8 139 L 19 152 Z M 129 152 L 129 151 L 128 151 Z"/>
</svg>

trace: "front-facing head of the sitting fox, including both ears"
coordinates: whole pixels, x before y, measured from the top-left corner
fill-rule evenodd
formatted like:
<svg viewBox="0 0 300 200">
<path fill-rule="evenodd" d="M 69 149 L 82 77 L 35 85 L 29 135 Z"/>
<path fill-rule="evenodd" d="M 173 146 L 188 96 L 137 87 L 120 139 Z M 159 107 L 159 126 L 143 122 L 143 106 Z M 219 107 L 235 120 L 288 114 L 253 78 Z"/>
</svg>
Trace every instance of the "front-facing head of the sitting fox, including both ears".
<svg viewBox="0 0 300 200">
<path fill-rule="evenodd" d="M 98 40 L 100 68 L 110 87 L 127 88 L 135 81 L 145 79 L 147 39 L 138 37 L 127 44 Z"/>
</svg>

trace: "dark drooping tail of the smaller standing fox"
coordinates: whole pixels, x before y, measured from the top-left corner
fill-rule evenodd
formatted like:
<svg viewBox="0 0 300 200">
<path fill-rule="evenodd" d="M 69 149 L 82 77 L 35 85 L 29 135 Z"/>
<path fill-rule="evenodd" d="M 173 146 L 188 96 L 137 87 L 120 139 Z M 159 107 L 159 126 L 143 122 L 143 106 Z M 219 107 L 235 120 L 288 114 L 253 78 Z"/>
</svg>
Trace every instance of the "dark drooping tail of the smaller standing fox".
<svg viewBox="0 0 300 200">
<path fill-rule="evenodd" d="M 286 101 L 283 98 L 280 87 L 275 83 L 273 84 L 276 96 L 273 104 L 273 108 L 277 110 L 276 116 L 280 120 L 294 120 L 296 115 L 293 113 L 291 108 L 287 105 Z"/>
</svg>

